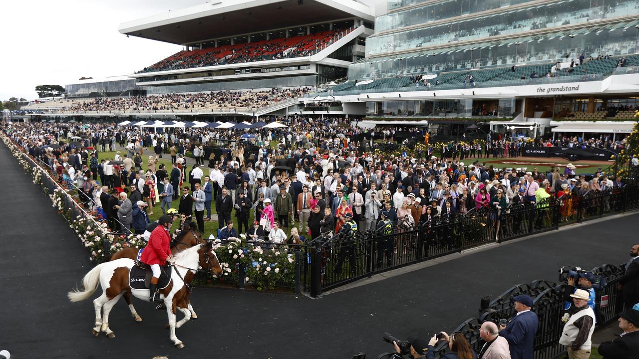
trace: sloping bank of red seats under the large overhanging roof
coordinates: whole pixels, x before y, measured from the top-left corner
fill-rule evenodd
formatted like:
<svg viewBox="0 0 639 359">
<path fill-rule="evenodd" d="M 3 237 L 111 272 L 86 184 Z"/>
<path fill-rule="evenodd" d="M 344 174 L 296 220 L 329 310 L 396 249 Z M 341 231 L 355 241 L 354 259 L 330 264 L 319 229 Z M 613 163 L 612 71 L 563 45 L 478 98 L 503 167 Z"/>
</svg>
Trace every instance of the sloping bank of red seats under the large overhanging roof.
<svg viewBox="0 0 639 359">
<path fill-rule="evenodd" d="M 348 31 L 348 30 L 344 30 Z M 322 31 L 309 35 L 298 35 L 290 38 L 275 38 L 237 45 L 222 45 L 207 49 L 182 50 L 141 72 L 164 70 L 180 70 L 202 66 L 247 63 L 271 59 L 309 56 L 315 50 L 322 49 L 338 34 L 344 31 Z"/>
</svg>

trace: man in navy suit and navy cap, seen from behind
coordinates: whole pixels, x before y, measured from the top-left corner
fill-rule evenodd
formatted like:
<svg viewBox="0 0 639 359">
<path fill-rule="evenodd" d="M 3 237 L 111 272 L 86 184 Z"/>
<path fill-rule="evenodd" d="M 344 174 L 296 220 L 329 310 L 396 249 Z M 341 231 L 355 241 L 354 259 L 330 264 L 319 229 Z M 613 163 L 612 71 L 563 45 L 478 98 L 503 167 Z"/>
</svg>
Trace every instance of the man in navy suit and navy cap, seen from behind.
<svg viewBox="0 0 639 359">
<path fill-rule="evenodd" d="M 511 319 L 508 325 L 499 326 L 499 335 L 508 340 L 512 359 L 532 359 L 535 333 L 537 333 L 539 325 L 537 314 L 530 311 L 532 298 L 521 294 L 512 300 L 515 302 L 517 315 Z"/>
</svg>

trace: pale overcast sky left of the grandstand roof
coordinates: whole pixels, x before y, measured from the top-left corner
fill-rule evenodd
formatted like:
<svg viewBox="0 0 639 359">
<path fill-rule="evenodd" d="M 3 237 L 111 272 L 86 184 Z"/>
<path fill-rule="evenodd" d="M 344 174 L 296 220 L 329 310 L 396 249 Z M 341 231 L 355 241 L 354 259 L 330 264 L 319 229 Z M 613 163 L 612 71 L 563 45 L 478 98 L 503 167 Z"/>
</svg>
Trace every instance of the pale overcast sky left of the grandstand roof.
<svg viewBox="0 0 639 359">
<path fill-rule="evenodd" d="M 182 48 L 127 38 L 119 24 L 205 0 L 4 1 L 0 17 L 0 100 L 38 97 L 36 85 L 128 75 Z"/>
</svg>

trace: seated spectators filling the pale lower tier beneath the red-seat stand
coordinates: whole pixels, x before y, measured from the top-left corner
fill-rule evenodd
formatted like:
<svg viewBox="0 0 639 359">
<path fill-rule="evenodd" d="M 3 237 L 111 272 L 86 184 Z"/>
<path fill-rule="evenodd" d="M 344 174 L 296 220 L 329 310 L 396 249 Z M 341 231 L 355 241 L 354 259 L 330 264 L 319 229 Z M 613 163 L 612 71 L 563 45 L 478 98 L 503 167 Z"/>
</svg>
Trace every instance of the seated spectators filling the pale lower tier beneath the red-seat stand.
<svg viewBox="0 0 639 359">
<path fill-rule="evenodd" d="M 194 109 L 260 108 L 272 103 L 297 98 L 309 88 L 272 88 L 268 91 L 220 91 L 210 93 L 165 94 L 117 98 L 93 98 L 73 102 L 59 111 L 162 111 Z"/>
</svg>

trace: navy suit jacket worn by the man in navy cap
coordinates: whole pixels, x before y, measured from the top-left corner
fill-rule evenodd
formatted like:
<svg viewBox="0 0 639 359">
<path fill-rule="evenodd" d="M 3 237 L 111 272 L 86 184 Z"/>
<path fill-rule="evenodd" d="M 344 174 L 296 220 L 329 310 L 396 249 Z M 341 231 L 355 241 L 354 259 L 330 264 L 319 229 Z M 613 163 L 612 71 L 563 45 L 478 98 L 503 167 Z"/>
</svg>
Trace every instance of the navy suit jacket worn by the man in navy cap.
<svg viewBox="0 0 639 359">
<path fill-rule="evenodd" d="M 506 328 L 499 332 L 499 335 L 508 340 L 511 359 L 532 359 L 537 326 L 537 314 L 528 311 L 513 317 Z"/>
</svg>

